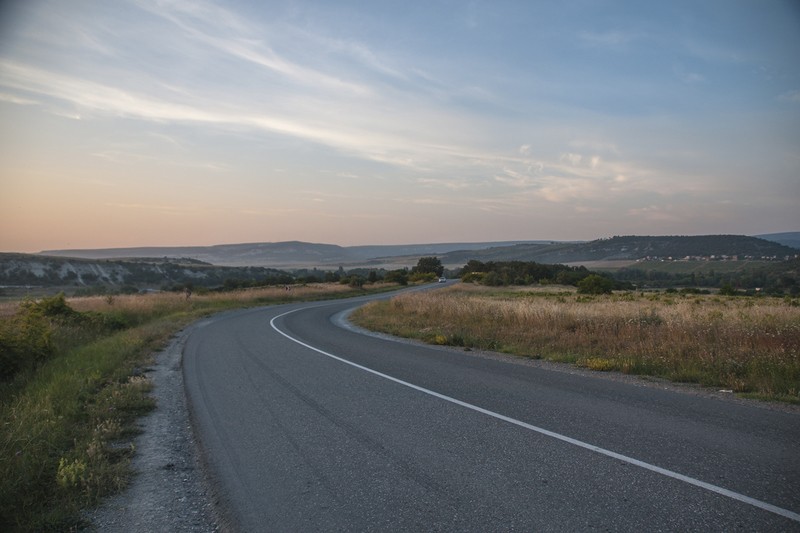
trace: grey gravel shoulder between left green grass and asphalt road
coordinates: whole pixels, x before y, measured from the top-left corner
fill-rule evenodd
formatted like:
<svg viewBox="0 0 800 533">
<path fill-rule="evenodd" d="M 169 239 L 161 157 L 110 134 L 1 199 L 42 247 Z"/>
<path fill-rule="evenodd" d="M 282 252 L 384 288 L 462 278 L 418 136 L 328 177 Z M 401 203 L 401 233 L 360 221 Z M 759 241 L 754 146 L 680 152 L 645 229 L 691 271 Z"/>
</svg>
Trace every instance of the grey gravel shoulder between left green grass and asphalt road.
<svg viewBox="0 0 800 533">
<path fill-rule="evenodd" d="M 192 431 L 183 386 L 181 357 L 191 327 L 158 353 L 147 376 L 155 410 L 139 421 L 135 472 L 128 488 L 87 511 L 88 531 L 226 531 L 215 513 Z"/>
</svg>

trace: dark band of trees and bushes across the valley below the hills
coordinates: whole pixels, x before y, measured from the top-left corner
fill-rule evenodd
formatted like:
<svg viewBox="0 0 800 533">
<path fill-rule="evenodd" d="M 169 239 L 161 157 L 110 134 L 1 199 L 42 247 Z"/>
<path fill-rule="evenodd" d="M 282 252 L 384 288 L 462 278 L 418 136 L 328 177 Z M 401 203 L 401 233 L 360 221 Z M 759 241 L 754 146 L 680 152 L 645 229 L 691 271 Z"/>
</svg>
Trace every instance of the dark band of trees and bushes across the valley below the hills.
<svg viewBox="0 0 800 533">
<path fill-rule="evenodd" d="M 413 268 L 386 270 L 383 268 L 354 268 L 346 270 L 296 269 L 283 271 L 264 267 L 211 267 L 177 264 L 159 265 L 160 272 L 128 263 L 129 275 L 124 279 L 104 279 L 100 276 L 82 275 L 85 285 L 78 285 L 76 276 L 67 273 L 59 277 L 55 269 L 44 276 L 30 271 L 0 273 L 0 285 L 32 285 L 41 287 L 73 286 L 76 296 L 137 293 L 141 290 L 163 291 L 230 291 L 253 287 L 292 285 L 304 283 L 343 283 L 362 286 L 365 283 L 392 282 L 405 285 L 409 282 L 431 281 L 438 276 L 460 278 L 465 282 L 489 286 L 571 285 L 588 276 L 610 281 L 613 290 L 633 289 L 724 289 L 729 293 L 755 293 L 772 295 L 800 295 L 800 259 L 776 261 L 732 271 L 713 267 L 693 272 L 670 272 L 657 266 L 627 267 L 616 271 L 591 271 L 584 266 L 544 264 L 534 261 L 469 260 L 460 269 L 445 269 L 436 257 L 424 257 Z M 200 275 L 202 273 L 202 275 Z M 597 281 L 597 278 L 595 278 Z M 88 282 L 88 284 L 86 284 Z M 605 284 L 604 286 L 608 286 Z M 2 289 L 0 289 L 2 291 Z"/>
</svg>

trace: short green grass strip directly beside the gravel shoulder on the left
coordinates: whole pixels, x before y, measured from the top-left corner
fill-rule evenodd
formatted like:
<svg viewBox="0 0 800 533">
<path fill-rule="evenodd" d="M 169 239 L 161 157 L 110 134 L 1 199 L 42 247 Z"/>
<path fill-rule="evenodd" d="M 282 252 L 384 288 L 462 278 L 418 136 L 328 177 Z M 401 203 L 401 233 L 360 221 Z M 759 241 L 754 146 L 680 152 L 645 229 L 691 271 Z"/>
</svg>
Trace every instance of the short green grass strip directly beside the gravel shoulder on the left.
<svg viewBox="0 0 800 533">
<path fill-rule="evenodd" d="M 136 374 L 185 323 L 161 318 L 73 348 L 5 399 L 0 530 L 76 529 L 81 508 L 125 487 L 135 420 L 154 407 Z"/>
</svg>

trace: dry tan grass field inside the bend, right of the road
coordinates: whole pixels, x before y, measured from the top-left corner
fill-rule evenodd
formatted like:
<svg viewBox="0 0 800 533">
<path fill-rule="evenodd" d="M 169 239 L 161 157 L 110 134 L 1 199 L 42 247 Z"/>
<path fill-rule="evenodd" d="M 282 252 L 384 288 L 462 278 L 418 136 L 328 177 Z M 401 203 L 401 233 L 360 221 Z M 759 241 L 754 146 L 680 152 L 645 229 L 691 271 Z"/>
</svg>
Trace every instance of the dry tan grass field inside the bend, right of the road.
<svg viewBox="0 0 800 533">
<path fill-rule="evenodd" d="M 363 327 L 800 403 L 797 299 L 459 285 L 375 302 Z"/>
</svg>

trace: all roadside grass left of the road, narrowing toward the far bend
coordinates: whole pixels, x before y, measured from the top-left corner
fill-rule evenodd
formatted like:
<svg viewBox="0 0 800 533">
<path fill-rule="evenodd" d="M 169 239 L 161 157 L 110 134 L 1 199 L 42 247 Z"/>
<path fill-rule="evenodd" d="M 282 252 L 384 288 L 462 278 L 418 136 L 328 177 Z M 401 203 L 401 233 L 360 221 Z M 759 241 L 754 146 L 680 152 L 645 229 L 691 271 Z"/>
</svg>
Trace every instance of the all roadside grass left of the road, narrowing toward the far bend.
<svg viewBox="0 0 800 533">
<path fill-rule="evenodd" d="M 396 286 L 371 292 L 389 289 Z M 60 295 L 0 318 L 0 531 L 79 530 L 82 509 L 127 485 L 136 419 L 154 408 L 144 370 L 187 324 L 229 309 L 365 292 L 76 300 L 100 309 L 82 312 Z"/>
</svg>

